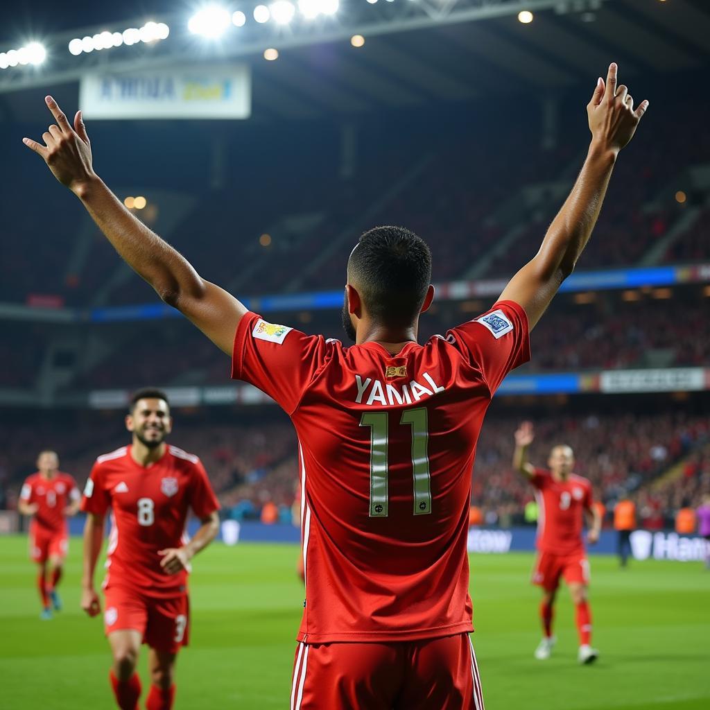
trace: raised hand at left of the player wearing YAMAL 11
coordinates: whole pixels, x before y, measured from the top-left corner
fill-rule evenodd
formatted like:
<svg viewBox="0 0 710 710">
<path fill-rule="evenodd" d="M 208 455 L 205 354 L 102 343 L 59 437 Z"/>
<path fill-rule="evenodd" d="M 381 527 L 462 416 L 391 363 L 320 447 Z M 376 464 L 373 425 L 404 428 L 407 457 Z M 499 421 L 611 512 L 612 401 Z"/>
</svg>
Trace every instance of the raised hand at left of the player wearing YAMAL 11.
<svg viewBox="0 0 710 710">
<path fill-rule="evenodd" d="M 45 97 L 45 102 L 57 123 L 52 124 L 42 134 L 44 143 L 38 143 L 31 138 L 23 138 L 22 142 L 42 156 L 62 185 L 78 195 L 84 185 L 96 178 L 92 166 L 91 143 L 82 112 L 77 111 L 72 127 L 52 97 Z"/>
</svg>

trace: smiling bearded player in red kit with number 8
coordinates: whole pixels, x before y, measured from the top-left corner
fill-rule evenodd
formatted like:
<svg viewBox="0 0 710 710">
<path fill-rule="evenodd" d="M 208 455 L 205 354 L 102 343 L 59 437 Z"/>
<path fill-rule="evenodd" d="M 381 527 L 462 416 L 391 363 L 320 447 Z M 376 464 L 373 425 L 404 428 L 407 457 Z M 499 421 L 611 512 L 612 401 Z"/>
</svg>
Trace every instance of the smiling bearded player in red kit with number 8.
<svg viewBox="0 0 710 710">
<path fill-rule="evenodd" d="M 111 687 L 123 710 L 138 708 L 141 643 L 150 647 L 152 685 L 146 707 L 173 706 L 175 656 L 190 633 L 190 559 L 209 545 L 219 527 L 219 504 L 200 459 L 165 442 L 172 427 L 165 394 L 136 392 L 126 416 L 131 445 L 99 456 L 82 498 L 88 513 L 82 608 L 89 616 L 101 611 L 94 569 L 104 517 L 111 510 L 104 628 L 114 657 Z M 202 523 L 190 541 L 185 537 L 188 508 Z"/>
</svg>

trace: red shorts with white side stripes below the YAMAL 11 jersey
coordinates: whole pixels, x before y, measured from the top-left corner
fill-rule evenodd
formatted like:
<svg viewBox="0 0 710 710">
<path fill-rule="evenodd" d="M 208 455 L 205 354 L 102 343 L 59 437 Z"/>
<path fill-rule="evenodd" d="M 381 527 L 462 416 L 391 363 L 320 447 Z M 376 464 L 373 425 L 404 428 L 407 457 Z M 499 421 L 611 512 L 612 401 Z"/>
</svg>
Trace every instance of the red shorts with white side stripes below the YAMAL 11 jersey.
<svg viewBox="0 0 710 710">
<path fill-rule="evenodd" d="M 299 643 L 290 710 L 484 710 L 467 633 L 386 643 Z"/>
</svg>

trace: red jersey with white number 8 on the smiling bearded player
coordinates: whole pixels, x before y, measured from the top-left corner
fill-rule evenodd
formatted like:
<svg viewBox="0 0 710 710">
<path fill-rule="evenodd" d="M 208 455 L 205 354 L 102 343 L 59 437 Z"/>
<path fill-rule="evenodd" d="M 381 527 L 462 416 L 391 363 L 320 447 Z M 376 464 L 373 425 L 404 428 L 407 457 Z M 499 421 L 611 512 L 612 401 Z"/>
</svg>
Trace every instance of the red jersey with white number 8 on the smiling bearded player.
<svg viewBox="0 0 710 710">
<path fill-rule="evenodd" d="M 87 513 L 104 515 L 109 508 L 113 513 L 104 587 L 176 596 L 186 589 L 187 572 L 166 574 L 158 551 L 182 545 L 188 508 L 206 518 L 219 503 L 196 456 L 168 446 L 162 459 L 143 467 L 127 446 L 99 456 L 81 507 Z"/>
</svg>

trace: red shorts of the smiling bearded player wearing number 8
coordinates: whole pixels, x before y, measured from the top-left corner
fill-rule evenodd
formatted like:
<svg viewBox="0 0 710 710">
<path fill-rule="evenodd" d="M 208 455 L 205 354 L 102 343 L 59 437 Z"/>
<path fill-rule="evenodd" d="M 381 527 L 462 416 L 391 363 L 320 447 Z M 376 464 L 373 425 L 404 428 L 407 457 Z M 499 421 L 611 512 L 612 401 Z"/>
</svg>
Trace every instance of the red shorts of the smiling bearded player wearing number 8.
<svg viewBox="0 0 710 710">
<path fill-rule="evenodd" d="M 109 586 L 104 590 L 104 630 L 136 630 L 143 643 L 168 653 L 187 646 L 190 636 L 190 600 L 187 594 L 158 599 L 135 589 Z"/>
</svg>

